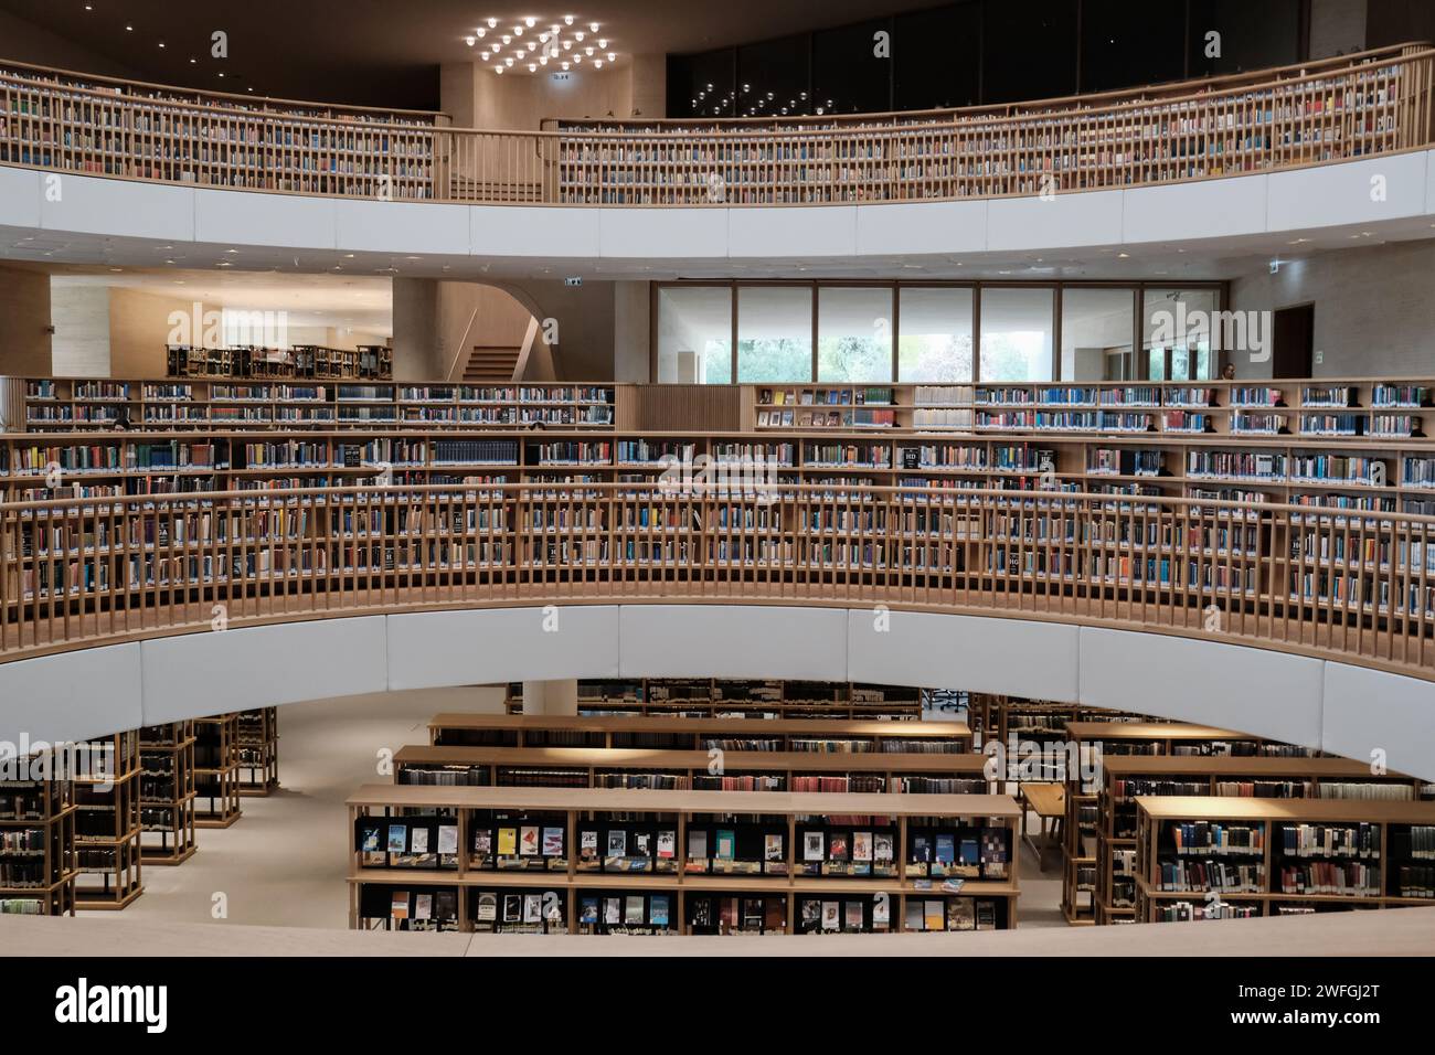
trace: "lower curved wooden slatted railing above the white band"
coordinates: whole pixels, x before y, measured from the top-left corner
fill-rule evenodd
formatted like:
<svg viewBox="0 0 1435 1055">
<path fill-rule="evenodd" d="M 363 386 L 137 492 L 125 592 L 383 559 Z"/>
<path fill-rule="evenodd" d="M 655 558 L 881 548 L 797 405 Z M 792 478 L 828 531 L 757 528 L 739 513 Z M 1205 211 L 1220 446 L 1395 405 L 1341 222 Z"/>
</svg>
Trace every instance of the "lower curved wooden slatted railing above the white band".
<svg viewBox="0 0 1435 1055">
<path fill-rule="evenodd" d="M 1188 498 L 429 485 L 0 505 L 0 659 L 334 614 L 888 604 L 1435 680 L 1435 518 Z"/>
</svg>

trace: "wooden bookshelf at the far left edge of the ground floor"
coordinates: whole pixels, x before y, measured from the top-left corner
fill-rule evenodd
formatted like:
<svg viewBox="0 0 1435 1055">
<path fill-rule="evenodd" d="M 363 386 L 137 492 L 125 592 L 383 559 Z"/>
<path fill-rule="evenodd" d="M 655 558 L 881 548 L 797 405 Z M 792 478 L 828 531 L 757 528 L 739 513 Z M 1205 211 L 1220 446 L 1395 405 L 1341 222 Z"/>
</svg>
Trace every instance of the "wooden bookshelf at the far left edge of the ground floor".
<svg viewBox="0 0 1435 1055">
<path fill-rule="evenodd" d="M 73 785 L 22 777 L 0 781 L 0 914 L 73 916 Z"/>
</svg>

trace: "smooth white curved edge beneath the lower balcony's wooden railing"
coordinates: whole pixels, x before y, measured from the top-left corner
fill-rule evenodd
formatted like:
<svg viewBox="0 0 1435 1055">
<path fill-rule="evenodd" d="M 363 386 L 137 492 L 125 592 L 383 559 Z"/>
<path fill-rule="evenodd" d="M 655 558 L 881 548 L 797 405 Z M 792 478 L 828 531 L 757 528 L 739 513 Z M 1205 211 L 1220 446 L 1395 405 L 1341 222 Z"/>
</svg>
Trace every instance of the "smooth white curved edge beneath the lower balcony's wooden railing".
<svg viewBox="0 0 1435 1055">
<path fill-rule="evenodd" d="M 554 623 L 557 623 L 555 629 Z M 885 629 L 880 629 L 885 626 Z M 799 646 L 799 647 L 796 647 Z M 1435 779 L 1435 685 L 1289 652 L 1020 617 L 564 604 L 310 619 L 0 665 L 0 739 L 373 692 L 565 677 L 960 686 L 1233 728 Z"/>
</svg>

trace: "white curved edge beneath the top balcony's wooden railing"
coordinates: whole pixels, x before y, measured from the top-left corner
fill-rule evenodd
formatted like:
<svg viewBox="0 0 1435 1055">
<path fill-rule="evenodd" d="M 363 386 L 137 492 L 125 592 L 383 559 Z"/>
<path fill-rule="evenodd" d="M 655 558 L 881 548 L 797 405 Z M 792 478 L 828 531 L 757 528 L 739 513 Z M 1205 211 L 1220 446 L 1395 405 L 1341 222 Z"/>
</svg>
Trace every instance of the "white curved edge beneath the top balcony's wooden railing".
<svg viewBox="0 0 1435 1055">
<path fill-rule="evenodd" d="M 416 254 L 464 277 L 491 261 L 940 260 L 1141 247 L 1398 225 L 1435 218 L 1435 151 L 1283 172 L 1042 198 L 763 208 L 623 208 L 353 201 L 144 184 L 0 165 L 0 230 L 330 254 Z M 1372 179 L 1386 194 L 1372 195 Z M 1379 200 L 1372 200 L 1372 197 Z M 218 258 L 218 255 L 217 255 Z M 324 258 L 327 263 L 327 257 Z"/>
</svg>

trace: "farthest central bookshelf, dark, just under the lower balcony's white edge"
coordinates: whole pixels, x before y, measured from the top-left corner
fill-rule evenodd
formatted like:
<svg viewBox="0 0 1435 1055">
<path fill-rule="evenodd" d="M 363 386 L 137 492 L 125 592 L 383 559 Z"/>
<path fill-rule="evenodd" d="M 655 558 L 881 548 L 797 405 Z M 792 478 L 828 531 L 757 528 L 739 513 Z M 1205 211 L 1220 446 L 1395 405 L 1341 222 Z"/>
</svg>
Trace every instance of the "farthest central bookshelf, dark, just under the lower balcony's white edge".
<svg viewBox="0 0 1435 1055">
<path fill-rule="evenodd" d="M 522 683 L 508 686 L 508 713 L 524 708 Z M 583 679 L 580 715 L 723 715 L 776 718 L 920 719 L 921 690 L 850 682 L 732 680 L 722 677 Z"/>
</svg>

